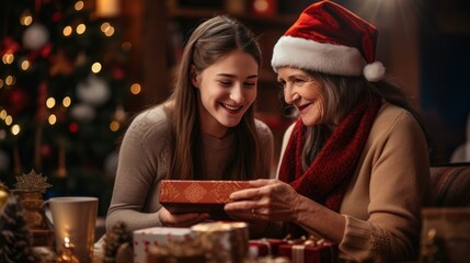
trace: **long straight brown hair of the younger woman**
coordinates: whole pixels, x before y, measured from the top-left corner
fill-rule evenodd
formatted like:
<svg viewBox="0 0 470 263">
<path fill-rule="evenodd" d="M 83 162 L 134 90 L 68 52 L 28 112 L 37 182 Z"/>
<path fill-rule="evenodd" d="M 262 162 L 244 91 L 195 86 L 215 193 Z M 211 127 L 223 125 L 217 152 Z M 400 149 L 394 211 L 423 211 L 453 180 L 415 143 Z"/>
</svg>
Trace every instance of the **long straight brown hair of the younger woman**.
<svg viewBox="0 0 470 263">
<path fill-rule="evenodd" d="M 202 149 L 198 94 L 191 81 L 191 67 L 194 65 L 197 71 L 203 71 L 234 49 L 250 54 L 257 65 L 261 65 L 261 49 L 253 33 L 227 15 L 217 15 L 202 23 L 186 43 L 170 98 L 172 104 L 167 107 L 174 149 L 169 171 L 172 179 L 204 176 L 203 157 L 198 152 Z M 225 179 L 252 179 L 262 171 L 253 105 L 243 115 L 240 124 L 232 129 L 238 139 L 236 171 L 234 174 L 225 174 Z"/>
</svg>

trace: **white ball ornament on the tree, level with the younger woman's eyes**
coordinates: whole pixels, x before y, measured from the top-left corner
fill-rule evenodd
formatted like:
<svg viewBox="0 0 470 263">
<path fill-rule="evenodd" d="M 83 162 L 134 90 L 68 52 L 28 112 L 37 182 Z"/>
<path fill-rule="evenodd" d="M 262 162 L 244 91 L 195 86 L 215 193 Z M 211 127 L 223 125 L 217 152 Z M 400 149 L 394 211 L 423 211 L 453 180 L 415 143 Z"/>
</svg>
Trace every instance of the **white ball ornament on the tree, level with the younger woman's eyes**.
<svg viewBox="0 0 470 263">
<path fill-rule="evenodd" d="M 77 96 L 84 103 L 100 106 L 110 99 L 111 92 L 104 79 L 92 75 L 77 85 Z"/>
</svg>

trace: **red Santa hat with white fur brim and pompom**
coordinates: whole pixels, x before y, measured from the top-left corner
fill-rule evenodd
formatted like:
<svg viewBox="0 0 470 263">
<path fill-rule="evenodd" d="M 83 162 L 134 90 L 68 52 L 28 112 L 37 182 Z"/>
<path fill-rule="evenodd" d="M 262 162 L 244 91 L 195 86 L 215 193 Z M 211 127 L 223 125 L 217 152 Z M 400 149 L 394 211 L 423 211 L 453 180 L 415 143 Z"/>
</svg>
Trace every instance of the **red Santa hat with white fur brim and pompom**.
<svg viewBox="0 0 470 263">
<path fill-rule="evenodd" d="M 362 76 L 368 81 L 383 78 L 385 68 L 375 61 L 377 28 L 331 1 L 308 7 L 274 46 L 271 65 L 339 76 Z"/>
</svg>

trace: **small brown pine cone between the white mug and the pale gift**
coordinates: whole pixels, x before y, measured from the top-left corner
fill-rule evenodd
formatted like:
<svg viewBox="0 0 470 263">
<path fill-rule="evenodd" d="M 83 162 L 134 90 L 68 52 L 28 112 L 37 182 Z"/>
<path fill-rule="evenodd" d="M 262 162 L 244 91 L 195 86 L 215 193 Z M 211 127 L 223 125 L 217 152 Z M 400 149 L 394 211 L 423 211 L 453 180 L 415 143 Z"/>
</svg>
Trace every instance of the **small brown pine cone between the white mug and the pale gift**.
<svg viewBox="0 0 470 263">
<path fill-rule="evenodd" d="M 104 256 L 106 259 L 115 259 L 117 249 L 123 243 L 133 244 L 133 232 L 127 230 L 127 226 L 123 221 L 116 222 L 113 228 L 106 232 L 104 238 Z"/>
</svg>

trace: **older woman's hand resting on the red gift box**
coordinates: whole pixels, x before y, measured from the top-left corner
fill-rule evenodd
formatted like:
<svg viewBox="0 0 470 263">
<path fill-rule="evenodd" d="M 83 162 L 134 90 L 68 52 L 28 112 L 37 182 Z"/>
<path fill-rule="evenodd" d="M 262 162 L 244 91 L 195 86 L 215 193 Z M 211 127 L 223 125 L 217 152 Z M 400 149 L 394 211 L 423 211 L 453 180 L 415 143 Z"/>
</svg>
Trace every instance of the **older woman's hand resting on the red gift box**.
<svg viewBox="0 0 470 263">
<path fill-rule="evenodd" d="M 300 195 L 289 185 L 279 180 L 250 181 L 253 188 L 232 193 L 233 201 L 225 206 L 229 215 L 245 220 L 282 220 L 296 219 L 296 206 Z"/>
</svg>

